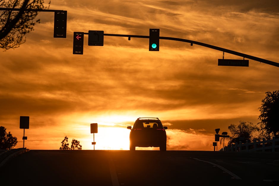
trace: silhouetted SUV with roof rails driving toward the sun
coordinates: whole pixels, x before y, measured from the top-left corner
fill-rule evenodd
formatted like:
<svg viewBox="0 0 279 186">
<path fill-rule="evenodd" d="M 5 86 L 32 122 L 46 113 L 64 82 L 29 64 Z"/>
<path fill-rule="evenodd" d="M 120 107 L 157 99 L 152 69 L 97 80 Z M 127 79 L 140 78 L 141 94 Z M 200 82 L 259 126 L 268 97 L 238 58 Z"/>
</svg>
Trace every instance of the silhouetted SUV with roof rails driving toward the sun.
<svg viewBox="0 0 279 186">
<path fill-rule="evenodd" d="M 130 150 L 136 147 L 160 147 L 167 150 L 167 127 L 163 127 L 158 117 L 139 117 L 130 132 Z"/>
</svg>

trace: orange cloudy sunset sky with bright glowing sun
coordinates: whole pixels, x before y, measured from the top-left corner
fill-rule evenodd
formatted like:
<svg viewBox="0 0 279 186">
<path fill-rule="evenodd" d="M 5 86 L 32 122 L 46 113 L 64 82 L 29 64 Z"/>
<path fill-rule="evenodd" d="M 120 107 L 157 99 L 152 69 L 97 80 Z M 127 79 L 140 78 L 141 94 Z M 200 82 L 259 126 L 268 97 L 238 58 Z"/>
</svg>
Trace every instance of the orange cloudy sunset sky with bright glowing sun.
<svg viewBox="0 0 279 186">
<path fill-rule="evenodd" d="M 65 136 L 93 149 L 90 123 L 98 123 L 95 149 L 115 150 L 129 149 L 126 127 L 138 117 L 158 117 L 169 128 L 167 150 L 213 150 L 215 128 L 257 124 L 265 92 L 279 90 L 278 67 L 218 66 L 221 51 L 184 42 L 160 40 L 151 52 L 148 39 L 104 36 L 100 47 L 85 35 L 83 55 L 72 54 L 74 31 L 148 36 L 159 28 L 279 62 L 277 0 L 54 0 L 50 9 L 67 10 L 67 38 L 53 38 L 54 13 L 40 12 L 24 44 L 0 51 L 0 125 L 16 148 L 20 116 L 30 117 L 29 149 L 59 149 Z"/>
</svg>

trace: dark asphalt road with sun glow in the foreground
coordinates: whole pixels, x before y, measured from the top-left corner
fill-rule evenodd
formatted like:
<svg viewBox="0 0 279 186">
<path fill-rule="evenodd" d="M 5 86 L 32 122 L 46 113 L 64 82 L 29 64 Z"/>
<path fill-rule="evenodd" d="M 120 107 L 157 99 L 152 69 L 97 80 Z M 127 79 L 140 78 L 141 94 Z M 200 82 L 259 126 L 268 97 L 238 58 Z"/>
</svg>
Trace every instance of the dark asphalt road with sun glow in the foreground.
<svg viewBox="0 0 279 186">
<path fill-rule="evenodd" d="M 31 150 L 0 185 L 279 185 L 279 154 L 212 151 Z"/>
</svg>

